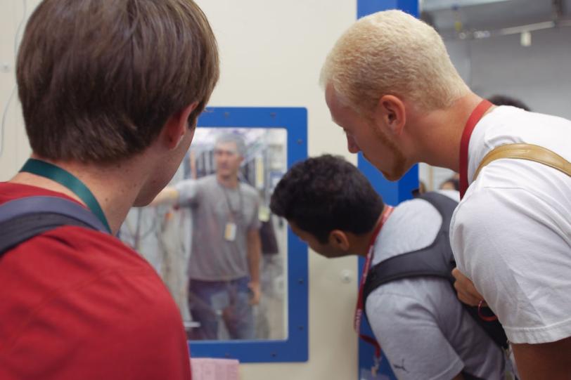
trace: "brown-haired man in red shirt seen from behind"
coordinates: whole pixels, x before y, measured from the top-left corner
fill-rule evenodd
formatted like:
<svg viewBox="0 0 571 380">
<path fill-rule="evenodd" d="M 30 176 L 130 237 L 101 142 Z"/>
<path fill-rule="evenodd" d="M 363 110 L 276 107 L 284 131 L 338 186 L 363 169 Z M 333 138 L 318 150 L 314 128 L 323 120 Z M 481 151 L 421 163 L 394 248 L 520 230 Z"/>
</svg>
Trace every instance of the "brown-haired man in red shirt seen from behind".
<svg viewBox="0 0 571 380">
<path fill-rule="evenodd" d="M 33 152 L 0 183 L 0 221 L 49 197 L 99 227 L 60 225 L 0 249 L 1 379 L 191 378 L 177 306 L 113 235 L 172 178 L 218 77 L 193 1 L 39 4 L 17 70 Z M 1 232 L 18 224 L 7 220 Z"/>
</svg>

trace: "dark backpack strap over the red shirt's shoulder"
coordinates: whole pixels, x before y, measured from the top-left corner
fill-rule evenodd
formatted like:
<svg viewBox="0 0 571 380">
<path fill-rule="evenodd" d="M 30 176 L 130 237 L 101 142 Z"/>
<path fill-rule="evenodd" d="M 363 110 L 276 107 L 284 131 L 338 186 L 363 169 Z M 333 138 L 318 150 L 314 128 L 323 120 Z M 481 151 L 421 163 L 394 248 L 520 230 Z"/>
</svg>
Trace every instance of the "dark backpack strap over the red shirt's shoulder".
<svg viewBox="0 0 571 380">
<path fill-rule="evenodd" d="M 68 199 L 24 197 L 0 205 L 0 257 L 18 244 L 62 225 L 106 233 L 91 211 Z"/>
</svg>

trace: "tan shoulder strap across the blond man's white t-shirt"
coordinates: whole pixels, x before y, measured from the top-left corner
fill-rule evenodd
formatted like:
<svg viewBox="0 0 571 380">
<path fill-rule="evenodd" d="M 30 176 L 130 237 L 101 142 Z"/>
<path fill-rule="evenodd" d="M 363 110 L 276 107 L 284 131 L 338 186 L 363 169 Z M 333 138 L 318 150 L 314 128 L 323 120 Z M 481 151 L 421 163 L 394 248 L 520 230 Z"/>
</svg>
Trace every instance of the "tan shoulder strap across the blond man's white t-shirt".
<svg viewBox="0 0 571 380">
<path fill-rule="evenodd" d="M 484 166 L 501 158 L 529 159 L 530 161 L 551 166 L 553 169 L 563 171 L 567 176 L 571 176 L 571 163 L 556 152 L 552 152 L 551 150 L 532 144 L 506 144 L 500 145 L 490 151 L 484 159 L 482 159 L 480 166 L 476 169 L 473 181 L 476 180 L 477 175 Z"/>
</svg>

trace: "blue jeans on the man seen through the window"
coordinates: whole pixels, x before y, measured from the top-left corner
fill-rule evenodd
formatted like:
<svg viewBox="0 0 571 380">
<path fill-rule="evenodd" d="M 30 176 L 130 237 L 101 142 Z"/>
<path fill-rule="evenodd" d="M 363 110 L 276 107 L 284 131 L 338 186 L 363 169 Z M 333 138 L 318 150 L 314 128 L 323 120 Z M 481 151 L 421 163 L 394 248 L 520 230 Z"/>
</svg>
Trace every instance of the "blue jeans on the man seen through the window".
<svg viewBox="0 0 571 380">
<path fill-rule="evenodd" d="M 200 327 L 191 339 L 217 340 L 218 324 L 224 322 L 230 339 L 254 339 L 254 314 L 250 305 L 249 277 L 230 281 L 190 280 L 188 304 Z"/>
</svg>

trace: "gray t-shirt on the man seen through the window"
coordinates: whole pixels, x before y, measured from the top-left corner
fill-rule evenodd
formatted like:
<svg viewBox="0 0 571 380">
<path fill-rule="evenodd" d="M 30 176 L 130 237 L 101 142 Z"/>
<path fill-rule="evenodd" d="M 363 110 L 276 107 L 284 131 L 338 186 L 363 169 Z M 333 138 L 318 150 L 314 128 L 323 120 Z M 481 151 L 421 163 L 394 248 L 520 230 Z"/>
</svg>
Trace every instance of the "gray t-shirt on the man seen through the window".
<svg viewBox="0 0 571 380">
<path fill-rule="evenodd" d="M 259 198 L 252 186 L 224 188 L 216 176 L 177 183 L 179 206 L 191 207 L 192 245 L 188 277 L 193 280 L 227 281 L 250 274 L 248 231 L 259 228 Z M 234 212 L 231 212 L 234 211 Z M 236 224 L 236 237 L 226 240 L 228 223 Z"/>
</svg>

